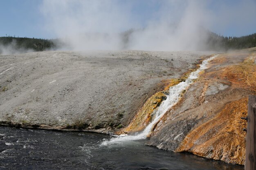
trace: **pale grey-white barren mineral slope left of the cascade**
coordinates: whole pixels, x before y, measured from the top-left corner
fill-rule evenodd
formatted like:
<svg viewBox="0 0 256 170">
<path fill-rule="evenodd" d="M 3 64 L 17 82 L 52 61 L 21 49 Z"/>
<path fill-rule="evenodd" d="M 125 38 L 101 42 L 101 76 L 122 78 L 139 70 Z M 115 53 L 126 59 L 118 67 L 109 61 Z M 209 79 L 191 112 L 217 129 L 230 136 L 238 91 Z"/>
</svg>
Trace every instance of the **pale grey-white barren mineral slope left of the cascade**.
<svg viewBox="0 0 256 170">
<path fill-rule="evenodd" d="M 126 126 L 146 99 L 212 52 L 45 51 L 0 55 L 2 124 Z"/>
</svg>

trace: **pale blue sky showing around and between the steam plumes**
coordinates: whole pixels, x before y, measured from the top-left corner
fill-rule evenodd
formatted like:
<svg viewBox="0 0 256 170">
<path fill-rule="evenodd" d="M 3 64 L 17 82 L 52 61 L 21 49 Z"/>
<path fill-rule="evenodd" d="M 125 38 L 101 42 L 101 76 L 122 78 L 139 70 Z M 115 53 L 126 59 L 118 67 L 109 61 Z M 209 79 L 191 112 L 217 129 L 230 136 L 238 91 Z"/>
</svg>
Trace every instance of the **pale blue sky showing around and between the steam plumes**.
<svg viewBox="0 0 256 170">
<path fill-rule="evenodd" d="M 61 2 L 61 0 L 56 1 L 56 3 L 58 2 Z M 129 22 L 127 23 L 131 24 L 126 23 L 124 27 L 120 27 L 118 30 L 125 31 L 130 28 L 146 26 L 148 23 L 152 22 L 152 20 L 161 18 L 159 16 L 168 15 L 165 13 L 159 14 L 164 10 L 171 11 L 170 17 L 176 17 L 177 15 L 176 18 L 178 21 L 179 16 L 185 12 L 184 9 L 186 7 L 183 7 L 183 5 L 186 6 L 188 1 L 180 3 L 181 1 L 170 0 L 168 2 L 170 5 L 167 7 L 166 2 L 167 1 L 164 0 L 113 0 L 110 5 L 114 4 L 117 9 L 120 7 L 121 11 L 127 9 L 127 11 L 124 11 L 124 13 L 127 13 L 124 17 L 129 18 Z M 201 2 L 205 3 L 199 0 L 198 4 Z M 52 24 L 52 21 L 49 20 L 53 15 L 55 16 L 55 14 L 51 13 L 48 15 L 47 13 L 47 8 L 50 5 L 51 2 L 49 2 L 49 0 L 1 0 L 0 36 L 15 35 L 16 37 L 31 38 L 58 37 L 59 35 L 56 33 L 56 30 L 52 31 L 54 29 L 47 29 L 47 27 L 50 27 Z M 165 7 L 166 9 L 164 9 Z M 209 0 L 204 4 L 203 8 L 206 13 L 209 11 L 209 13 L 215 17 L 214 22 L 216 22 L 216 24 L 211 22 L 211 26 L 209 27 L 211 31 L 226 36 L 241 36 L 256 33 L 255 0 Z M 55 10 L 58 10 L 58 8 Z M 84 17 L 86 18 L 87 15 L 84 14 Z"/>
</svg>

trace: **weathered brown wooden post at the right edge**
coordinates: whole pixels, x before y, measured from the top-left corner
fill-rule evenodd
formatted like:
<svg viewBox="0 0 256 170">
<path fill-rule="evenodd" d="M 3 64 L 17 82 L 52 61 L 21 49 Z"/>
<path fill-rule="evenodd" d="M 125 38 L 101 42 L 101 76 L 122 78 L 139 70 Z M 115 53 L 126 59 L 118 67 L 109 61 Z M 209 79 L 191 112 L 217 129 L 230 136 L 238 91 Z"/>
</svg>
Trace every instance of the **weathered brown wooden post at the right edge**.
<svg viewBox="0 0 256 170">
<path fill-rule="evenodd" d="M 256 96 L 249 95 L 245 170 L 256 170 Z"/>
</svg>

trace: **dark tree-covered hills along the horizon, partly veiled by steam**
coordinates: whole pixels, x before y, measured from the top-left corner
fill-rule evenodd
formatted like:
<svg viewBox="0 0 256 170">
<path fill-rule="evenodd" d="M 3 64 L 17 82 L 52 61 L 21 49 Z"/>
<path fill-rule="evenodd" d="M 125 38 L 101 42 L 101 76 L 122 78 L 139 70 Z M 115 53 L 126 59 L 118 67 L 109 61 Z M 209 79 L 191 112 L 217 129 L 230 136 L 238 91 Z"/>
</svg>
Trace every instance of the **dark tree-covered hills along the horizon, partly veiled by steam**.
<svg viewBox="0 0 256 170">
<path fill-rule="evenodd" d="M 129 43 L 129 36 L 134 30 L 120 33 L 124 49 Z M 200 50 L 227 51 L 232 49 L 247 49 L 256 47 L 256 33 L 241 37 L 224 37 L 211 31 L 207 31 L 207 39 L 204 40 L 204 48 Z M 12 36 L 0 37 L 0 54 L 26 53 L 32 51 L 57 50 L 61 47 L 68 47 L 60 39 L 40 38 L 16 38 Z"/>
</svg>

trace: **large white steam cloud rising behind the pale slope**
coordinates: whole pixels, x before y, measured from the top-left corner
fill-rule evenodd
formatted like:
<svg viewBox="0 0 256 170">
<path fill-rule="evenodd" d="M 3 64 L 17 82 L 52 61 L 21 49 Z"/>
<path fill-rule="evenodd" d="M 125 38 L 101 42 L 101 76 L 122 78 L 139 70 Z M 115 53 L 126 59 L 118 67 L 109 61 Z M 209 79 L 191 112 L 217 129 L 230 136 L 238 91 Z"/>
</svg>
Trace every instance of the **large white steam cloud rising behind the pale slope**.
<svg viewBox="0 0 256 170">
<path fill-rule="evenodd" d="M 255 22 L 256 16 L 254 0 L 236 1 L 233 6 L 221 0 L 143 2 L 43 0 L 40 11 L 45 29 L 61 38 L 66 44 L 63 48 L 79 51 L 204 50 L 208 38 L 205 30 L 220 31 L 230 25 L 244 29 L 250 26 L 248 21 Z M 152 11 L 139 11 L 144 5 Z"/>
</svg>

